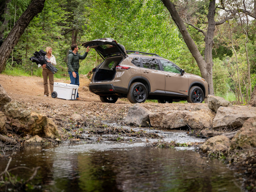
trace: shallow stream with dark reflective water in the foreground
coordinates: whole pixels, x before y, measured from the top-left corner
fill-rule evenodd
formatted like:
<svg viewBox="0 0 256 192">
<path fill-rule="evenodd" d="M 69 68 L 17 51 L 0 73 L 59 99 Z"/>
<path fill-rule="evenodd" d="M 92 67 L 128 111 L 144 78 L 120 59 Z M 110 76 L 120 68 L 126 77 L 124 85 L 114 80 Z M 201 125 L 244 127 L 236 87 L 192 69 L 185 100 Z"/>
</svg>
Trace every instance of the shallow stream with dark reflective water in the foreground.
<svg viewBox="0 0 256 192">
<path fill-rule="evenodd" d="M 204 141 L 187 136 L 186 131 L 147 131 L 158 132 L 165 141 Z M 191 147 L 162 149 L 147 146 L 155 140 L 96 142 L 95 137 L 95 140 L 75 145 L 28 146 L 12 156 L 9 168 L 40 166 L 33 183 L 43 190 L 56 192 L 241 191 L 239 176 L 220 160 L 203 157 Z M 2 160 L 1 171 L 7 162 L 8 159 Z M 21 169 L 12 173 L 22 178 L 31 176 Z"/>
</svg>

